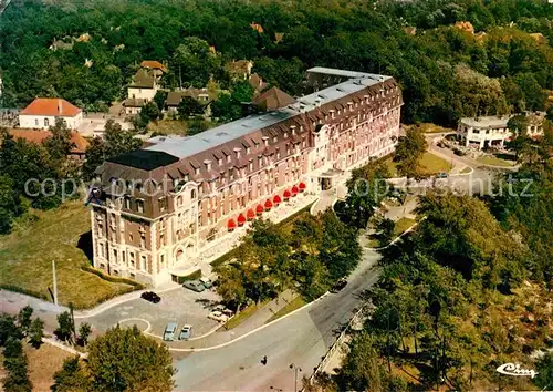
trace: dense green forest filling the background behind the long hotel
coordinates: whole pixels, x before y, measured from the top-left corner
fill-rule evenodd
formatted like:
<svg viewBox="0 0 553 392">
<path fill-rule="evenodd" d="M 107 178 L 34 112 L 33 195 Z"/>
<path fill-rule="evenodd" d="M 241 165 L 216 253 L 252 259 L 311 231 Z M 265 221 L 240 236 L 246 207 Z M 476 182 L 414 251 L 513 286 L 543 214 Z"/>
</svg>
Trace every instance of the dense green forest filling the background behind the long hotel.
<svg viewBox="0 0 553 392">
<path fill-rule="evenodd" d="M 210 76 L 227 87 L 222 64 L 250 59 L 290 93 L 313 65 L 389 74 L 404 90 L 404 122 L 451 125 L 544 109 L 553 50 L 529 33 L 552 42 L 552 19 L 545 0 L 13 0 L 0 25 L 3 104 L 63 96 L 105 107 L 145 59 L 169 65 L 167 87 L 205 86 Z M 453 28 L 458 21 L 486 34 Z"/>
</svg>

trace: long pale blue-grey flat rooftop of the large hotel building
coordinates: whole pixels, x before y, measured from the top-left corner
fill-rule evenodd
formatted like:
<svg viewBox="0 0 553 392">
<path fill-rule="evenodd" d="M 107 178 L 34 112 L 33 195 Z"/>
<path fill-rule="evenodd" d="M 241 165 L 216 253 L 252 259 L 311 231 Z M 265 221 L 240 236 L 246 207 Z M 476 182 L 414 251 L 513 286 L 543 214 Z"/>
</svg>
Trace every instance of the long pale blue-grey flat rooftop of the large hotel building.
<svg viewBox="0 0 553 392">
<path fill-rule="evenodd" d="M 309 112 L 333 101 L 356 93 L 367 86 L 382 83 L 390 76 L 375 75 L 362 72 L 313 68 L 307 72 L 336 74 L 352 78 L 340 84 L 320 90 L 315 93 L 299 97 L 293 104 L 275 111 L 252 114 L 247 117 L 227 123 L 215 128 L 204 131 L 194 136 L 157 136 L 148 140 L 154 145 L 147 151 L 157 151 L 170 154 L 179 159 L 191 157 L 207 149 L 217 147 L 236 138 L 246 136 L 254 131 L 269 127 L 301 113 Z"/>
</svg>

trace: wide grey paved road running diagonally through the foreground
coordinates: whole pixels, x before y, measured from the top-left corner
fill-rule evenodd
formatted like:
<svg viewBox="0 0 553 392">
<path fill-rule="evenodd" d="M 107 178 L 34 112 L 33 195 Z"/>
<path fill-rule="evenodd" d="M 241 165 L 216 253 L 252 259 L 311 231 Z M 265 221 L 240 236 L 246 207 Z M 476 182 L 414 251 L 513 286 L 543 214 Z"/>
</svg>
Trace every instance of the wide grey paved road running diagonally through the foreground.
<svg viewBox="0 0 553 392">
<path fill-rule="evenodd" d="M 349 283 L 313 306 L 217 350 L 200 351 L 176 361 L 177 391 L 293 391 L 290 364 L 311 375 L 330 345 L 361 305 L 359 295 L 378 279 L 379 255 L 365 250 Z M 268 363 L 261 359 L 267 355 Z"/>
</svg>

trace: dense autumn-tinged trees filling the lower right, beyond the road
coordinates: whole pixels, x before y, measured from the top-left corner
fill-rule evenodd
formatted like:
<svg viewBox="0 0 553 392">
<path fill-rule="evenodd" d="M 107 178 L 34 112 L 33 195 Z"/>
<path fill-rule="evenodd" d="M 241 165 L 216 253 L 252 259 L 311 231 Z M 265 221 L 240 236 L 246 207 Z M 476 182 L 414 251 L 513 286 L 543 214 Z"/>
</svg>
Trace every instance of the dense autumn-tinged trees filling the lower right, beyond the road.
<svg viewBox="0 0 553 392">
<path fill-rule="evenodd" d="M 521 169 L 498 177 L 494 196 L 420 197 L 426 219 L 383 251 L 367 293 L 376 309 L 338 374 L 315 389 L 551 389 L 552 355 L 532 363 L 530 354 L 553 345 L 552 135 L 547 123 Z M 507 362 L 541 374 L 502 378 L 495 368 Z"/>
</svg>

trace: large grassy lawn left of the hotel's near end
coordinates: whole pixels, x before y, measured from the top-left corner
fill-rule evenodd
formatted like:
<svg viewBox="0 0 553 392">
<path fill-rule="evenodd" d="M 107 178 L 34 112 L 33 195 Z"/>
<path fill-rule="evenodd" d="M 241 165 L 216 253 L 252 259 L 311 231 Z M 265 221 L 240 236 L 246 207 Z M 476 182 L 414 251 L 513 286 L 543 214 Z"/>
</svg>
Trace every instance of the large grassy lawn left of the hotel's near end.
<svg viewBox="0 0 553 392">
<path fill-rule="evenodd" d="M 129 290 L 127 285 L 112 283 L 81 269 L 90 261 L 77 243 L 91 228 L 90 212 L 82 202 L 33 213 L 39 217 L 36 221 L 0 236 L 0 286 L 14 286 L 49 298 L 55 260 L 61 303 L 90 308 Z"/>
</svg>

